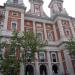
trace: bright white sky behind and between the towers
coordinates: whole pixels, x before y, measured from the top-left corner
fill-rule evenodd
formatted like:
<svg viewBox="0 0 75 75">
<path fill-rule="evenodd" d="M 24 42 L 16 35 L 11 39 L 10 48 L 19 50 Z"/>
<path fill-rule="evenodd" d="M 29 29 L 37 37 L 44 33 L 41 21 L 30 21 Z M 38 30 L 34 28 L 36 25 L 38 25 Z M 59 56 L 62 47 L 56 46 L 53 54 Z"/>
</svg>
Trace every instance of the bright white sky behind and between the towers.
<svg viewBox="0 0 75 75">
<path fill-rule="evenodd" d="M 7 0 L 0 0 L 0 5 L 3 5 Z M 45 11 L 45 13 L 50 16 L 50 9 L 48 8 L 48 5 L 50 3 L 51 0 L 43 0 L 44 4 L 43 4 L 43 9 Z M 29 4 L 29 0 L 23 0 L 25 6 L 27 7 L 27 11 L 30 8 L 30 4 Z M 75 17 L 75 0 L 64 0 L 64 8 L 66 9 L 67 13 L 72 16 Z"/>
</svg>

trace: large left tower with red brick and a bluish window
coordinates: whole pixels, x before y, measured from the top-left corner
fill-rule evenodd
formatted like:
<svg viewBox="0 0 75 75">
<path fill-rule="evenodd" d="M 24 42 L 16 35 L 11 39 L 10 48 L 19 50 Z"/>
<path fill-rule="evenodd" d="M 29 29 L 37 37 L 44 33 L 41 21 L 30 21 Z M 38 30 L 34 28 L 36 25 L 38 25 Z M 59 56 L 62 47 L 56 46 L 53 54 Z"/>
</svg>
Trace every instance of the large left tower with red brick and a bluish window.
<svg viewBox="0 0 75 75">
<path fill-rule="evenodd" d="M 24 31 L 24 14 L 26 7 L 23 0 L 7 0 L 5 3 L 4 29 L 18 32 Z"/>
</svg>

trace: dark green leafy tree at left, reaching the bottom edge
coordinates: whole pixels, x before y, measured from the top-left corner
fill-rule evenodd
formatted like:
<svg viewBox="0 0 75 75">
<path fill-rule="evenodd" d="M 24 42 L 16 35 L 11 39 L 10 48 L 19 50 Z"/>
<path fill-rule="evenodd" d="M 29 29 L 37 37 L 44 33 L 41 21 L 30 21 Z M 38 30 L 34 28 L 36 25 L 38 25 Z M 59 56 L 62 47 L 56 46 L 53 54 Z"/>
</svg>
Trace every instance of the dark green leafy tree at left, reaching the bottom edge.
<svg viewBox="0 0 75 75">
<path fill-rule="evenodd" d="M 10 42 L 4 42 L 5 55 L 3 60 L 3 75 L 17 75 L 19 71 L 20 59 L 19 55 L 16 55 L 16 50 L 20 49 L 20 38 L 18 32 L 14 31 Z"/>
</svg>

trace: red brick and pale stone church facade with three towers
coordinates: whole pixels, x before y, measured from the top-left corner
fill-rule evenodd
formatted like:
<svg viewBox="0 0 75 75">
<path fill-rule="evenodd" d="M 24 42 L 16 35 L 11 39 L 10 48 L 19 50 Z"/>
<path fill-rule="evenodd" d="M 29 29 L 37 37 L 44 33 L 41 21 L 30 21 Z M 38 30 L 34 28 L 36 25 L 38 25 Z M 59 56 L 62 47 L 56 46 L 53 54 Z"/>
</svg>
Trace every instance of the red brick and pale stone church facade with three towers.
<svg viewBox="0 0 75 75">
<path fill-rule="evenodd" d="M 7 0 L 0 6 L 0 29 L 3 39 L 9 40 L 12 30 L 33 31 L 48 46 L 37 52 L 35 62 L 21 64 L 20 75 L 75 75 L 75 56 L 71 57 L 64 48 L 64 42 L 75 38 L 75 18 L 63 8 L 63 0 L 51 0 L 51 17 L 43 11 L 42 0 L 29 0 L 30 10 L 26 12 L 23 0 Z M 0 50 L 0 55 L 5 50 Z"/>
</svg>

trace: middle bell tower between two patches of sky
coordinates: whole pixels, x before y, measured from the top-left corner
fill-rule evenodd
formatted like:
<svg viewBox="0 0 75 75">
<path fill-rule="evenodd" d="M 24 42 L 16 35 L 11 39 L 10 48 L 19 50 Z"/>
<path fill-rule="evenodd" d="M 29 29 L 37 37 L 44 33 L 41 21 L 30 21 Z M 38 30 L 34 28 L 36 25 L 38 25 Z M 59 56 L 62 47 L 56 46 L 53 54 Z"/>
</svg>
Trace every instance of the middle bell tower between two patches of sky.
<svg viewBox="0 0 75 75">
<path fill-rule="evenodd" d="M 43 11 L 43 0 L 29 0 L 30 2 L 30 14 L 36 16 L 45 17 L 46 14 Z"/>
</svg>

